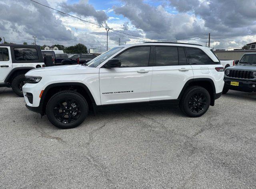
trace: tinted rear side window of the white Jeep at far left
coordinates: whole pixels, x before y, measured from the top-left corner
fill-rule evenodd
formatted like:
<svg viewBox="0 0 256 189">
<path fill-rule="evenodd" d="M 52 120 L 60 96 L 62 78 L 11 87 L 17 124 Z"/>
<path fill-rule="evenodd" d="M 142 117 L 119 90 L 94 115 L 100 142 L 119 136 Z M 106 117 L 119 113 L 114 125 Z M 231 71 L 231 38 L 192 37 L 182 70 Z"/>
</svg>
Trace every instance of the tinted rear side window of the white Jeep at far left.
<svg viewBox="0 0 256 189">
<path fill-rule="evenodd" d="M 16 61 L 37 61 L 38 53 L 34 48 L 14 48 L 14 58 Z"/>
</svg>

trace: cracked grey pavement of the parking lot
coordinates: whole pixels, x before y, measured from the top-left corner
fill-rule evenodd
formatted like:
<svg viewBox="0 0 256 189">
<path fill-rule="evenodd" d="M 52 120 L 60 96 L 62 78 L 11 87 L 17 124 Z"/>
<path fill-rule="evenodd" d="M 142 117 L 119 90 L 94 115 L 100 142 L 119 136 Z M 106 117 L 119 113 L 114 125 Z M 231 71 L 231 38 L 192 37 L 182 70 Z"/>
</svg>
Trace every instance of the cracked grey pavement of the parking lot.
<svg viewBox="0 0 256 189">
<path fill-rule="evenodd" d="M 100 110 L 60 130 L 0 88 L 0 188 L 256 187 L 256 93 L 200 118 L 176 107 Z"/>
</svg>

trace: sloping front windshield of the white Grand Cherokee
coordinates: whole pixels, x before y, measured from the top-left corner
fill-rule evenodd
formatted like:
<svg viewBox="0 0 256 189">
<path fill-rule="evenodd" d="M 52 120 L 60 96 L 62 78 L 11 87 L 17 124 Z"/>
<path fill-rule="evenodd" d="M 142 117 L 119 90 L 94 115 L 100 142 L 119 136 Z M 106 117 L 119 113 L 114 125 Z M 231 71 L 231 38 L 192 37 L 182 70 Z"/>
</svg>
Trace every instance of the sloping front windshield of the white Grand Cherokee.
<svg viewBox="0 0 256 189">
<path fill-rule="evenodd" d="M 124 48 L 124 47 L 114 47 L 113 49 L 110 49 L 109 51 L 106 51 L 102 55 L 92 59 L 91 61 L 86 63 L 86 65 L 88 65 L 89 67 L 97 67 L 102 62 L 104 62 L 106 59 L 108 59 L 109 57 L 111 57 L 112 55 L 114 55 L 115 53 L 120 51 L 122 48 Z"/>
</svg>

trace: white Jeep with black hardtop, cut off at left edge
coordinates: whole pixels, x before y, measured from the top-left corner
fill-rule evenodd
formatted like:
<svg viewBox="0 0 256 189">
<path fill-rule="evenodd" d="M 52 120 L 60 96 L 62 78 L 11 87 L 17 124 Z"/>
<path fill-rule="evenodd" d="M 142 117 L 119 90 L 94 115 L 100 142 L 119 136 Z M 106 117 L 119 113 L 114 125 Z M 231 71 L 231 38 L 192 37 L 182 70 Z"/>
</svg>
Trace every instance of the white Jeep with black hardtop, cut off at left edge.
<svg viewBox="0 0 256 189">
<path fill-rule="evenodd" d="M 16 95 L 23 96 L 25 73 L 43 65 L 38 45 L 0 44 L 0 87 L 12 87 Z"/>
</svg>

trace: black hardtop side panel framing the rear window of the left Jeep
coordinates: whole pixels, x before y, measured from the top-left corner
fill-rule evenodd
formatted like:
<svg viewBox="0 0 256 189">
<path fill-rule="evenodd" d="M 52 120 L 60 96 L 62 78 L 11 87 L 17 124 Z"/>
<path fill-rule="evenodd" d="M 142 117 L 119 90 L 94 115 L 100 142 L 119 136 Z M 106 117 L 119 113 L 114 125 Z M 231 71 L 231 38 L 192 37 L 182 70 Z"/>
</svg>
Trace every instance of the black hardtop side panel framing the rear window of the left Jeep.
<svg viewBox="0 0 256 189">
<path fill-rule="evenodd" d="M 28 48 L 28 49 L 36 49 L 37 55 L 38 55 L 38 60 L 26 60 L 26 61 L 18 61 L 14 57 L 14 48 Z M 11 49 L 11 57 L 12 57 L 12 63 L 44 63 L 43 56 L 41 49 L 38 45 L 35 47 L 24 47 L 23 45 L 15 45 L 15 46 L 10 46 Z"/>
</svg>

